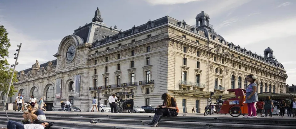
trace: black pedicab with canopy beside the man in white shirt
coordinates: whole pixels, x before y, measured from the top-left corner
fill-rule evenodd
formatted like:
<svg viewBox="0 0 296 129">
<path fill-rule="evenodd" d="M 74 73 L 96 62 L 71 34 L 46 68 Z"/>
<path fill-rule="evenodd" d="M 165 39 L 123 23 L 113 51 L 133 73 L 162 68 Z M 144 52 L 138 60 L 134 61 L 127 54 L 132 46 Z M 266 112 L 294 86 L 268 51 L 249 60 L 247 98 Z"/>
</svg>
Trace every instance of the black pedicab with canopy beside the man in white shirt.
<svg viewBox="0 0 296 129">
<path fill-rule="evenodd" d="M 116 96 L 118 96 L 118 112 L 122 113 L 124 111 L 128 111 L 130 113 L 133 113 L 134 99 L 129 99 L 127 98 L 127 96 L 133 96 L 134 92 L 117 92 L 115 94 Z"/>
</svg>

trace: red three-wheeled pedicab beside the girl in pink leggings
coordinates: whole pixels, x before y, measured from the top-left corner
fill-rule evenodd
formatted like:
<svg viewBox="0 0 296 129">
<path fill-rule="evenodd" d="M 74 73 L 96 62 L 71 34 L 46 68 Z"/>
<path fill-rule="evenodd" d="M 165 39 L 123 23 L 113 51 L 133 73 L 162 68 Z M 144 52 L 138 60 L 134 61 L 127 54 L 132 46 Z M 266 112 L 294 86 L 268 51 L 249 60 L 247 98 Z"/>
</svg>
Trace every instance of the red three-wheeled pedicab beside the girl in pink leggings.
<svg viewBox="0 0 296 129">
<path fill-rule="evenodd" d="M 234 92 L 235 97 L 229 98 L 228 100 L 221 100 L 219 97 L 217 103 L 223 103 L 222 105 L 210 105 L 205 110 L 204 115 L 208 115 L 210 111 L 213 111 L 215 114 L 230 114 L 232 117 L 238 117 L 240 115 L 247 115 L 248 114 L 248 106 L 245 104 L 246 101 L 246 90 L 245 89 L 228 89 L 228 92 Z M 215 103 L 216 104 L 216 103 Z M 216 109 L 212 108 L 212 106 L 216 106 Z"/>
</svg>

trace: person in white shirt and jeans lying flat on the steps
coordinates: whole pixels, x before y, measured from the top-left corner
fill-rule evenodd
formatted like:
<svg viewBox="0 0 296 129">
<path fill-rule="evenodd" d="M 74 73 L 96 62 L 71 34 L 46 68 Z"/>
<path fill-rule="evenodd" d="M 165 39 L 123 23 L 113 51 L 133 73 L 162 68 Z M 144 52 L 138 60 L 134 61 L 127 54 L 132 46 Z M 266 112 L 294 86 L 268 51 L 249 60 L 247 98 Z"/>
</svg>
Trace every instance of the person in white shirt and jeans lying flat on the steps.
<svg viewBox="0 0 296 129">
<path fill-rule="evenodd" d="M 47 122 L 41 123 L 41 124 L 21 124 L 15 121 L 8 121 L 7 128 L 8 129 L 44 129 L 44 127 L 47 127 L 49 124 Z"/>
</svg>

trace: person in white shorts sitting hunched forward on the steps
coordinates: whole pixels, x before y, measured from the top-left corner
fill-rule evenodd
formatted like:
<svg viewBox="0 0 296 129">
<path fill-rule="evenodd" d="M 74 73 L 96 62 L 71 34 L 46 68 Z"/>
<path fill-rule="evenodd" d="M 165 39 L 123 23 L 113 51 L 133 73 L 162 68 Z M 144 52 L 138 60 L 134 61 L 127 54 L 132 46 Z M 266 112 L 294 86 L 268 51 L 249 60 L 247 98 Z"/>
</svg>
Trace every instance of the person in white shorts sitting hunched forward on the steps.
<svg viewBox="0 0 296 129">
<path fill-rule="evenodd" d="M 28 119 L 30 119 L 30 122 L 33 123 L 33 118 L 35 120 L 46 120 L 45 114 L 42 110 L 38 108 L 32 108 L 31 105 L 28 105 L 27 109 L 28 112 L 23 111 L 23 118 L 25 119 L 23 120 L 24 122 L 27 122 Z"/>
</svg>

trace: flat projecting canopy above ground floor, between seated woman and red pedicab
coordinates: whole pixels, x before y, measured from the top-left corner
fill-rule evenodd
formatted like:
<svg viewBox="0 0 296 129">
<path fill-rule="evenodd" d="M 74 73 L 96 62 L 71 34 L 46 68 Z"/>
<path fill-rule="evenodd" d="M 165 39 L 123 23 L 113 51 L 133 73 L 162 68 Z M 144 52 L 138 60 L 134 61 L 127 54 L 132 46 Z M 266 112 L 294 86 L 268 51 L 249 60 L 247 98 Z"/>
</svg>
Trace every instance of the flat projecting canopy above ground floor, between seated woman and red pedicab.
<svg viewBox="0 0 296 129">
<path fill-rule="evenodd" d="M 206 91 L 197 91 L 197 90 L 168 90 L 168 91 L 173 92 L 175 94 L 179 94 L 180 96 L 210 98 L 210 92 L 206 92 Z M 235 95 L 231 95 L 231 94 L 215 93 L 212 96 L 212 98 L 218 98 L 219 96 L 222 96 L 222 99 L 235 97 Z"/>
</svg>

